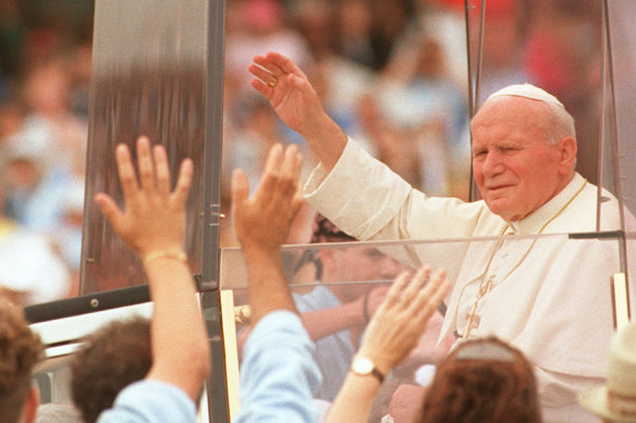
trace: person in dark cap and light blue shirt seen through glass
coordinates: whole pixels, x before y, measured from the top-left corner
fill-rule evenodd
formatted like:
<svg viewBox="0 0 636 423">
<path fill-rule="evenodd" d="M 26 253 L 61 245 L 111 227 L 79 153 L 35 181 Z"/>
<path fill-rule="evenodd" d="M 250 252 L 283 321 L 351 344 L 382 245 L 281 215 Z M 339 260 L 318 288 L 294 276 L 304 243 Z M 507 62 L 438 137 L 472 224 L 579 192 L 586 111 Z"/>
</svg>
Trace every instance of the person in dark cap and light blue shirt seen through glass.
<svg viewBox="0 0 636 423">
<path fill-rule="evenodd" d="M 316 214 L 311 242 L 354 240 L 325 216 Z M 359 337 L 387 293 L 368 282 L 392 281 L 402 265 L 374 247 L 307 250 L 320 284 L 306 294 L 293 294 L 322 374 L 317 398 L 333 401 L 344 381 Z M 305 254 L 307 257 L 307 254 Z M 366 283 L 365 283 L 366 282 Z"/>
</svg>

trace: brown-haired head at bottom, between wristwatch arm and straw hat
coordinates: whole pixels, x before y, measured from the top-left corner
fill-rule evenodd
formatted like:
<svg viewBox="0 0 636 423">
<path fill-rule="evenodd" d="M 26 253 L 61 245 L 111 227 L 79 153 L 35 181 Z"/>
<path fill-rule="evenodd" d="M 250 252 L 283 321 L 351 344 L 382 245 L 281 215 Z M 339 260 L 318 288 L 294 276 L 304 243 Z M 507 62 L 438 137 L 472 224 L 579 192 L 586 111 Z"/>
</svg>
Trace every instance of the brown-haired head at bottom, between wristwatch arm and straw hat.
<svg viewBox="0 0 636 423">
<path fill-rule="evenodd" d="M 417 421 L 541 422 L 533 368 L 497 338 L 467 340 L 438 365 Z"/>
</svg>

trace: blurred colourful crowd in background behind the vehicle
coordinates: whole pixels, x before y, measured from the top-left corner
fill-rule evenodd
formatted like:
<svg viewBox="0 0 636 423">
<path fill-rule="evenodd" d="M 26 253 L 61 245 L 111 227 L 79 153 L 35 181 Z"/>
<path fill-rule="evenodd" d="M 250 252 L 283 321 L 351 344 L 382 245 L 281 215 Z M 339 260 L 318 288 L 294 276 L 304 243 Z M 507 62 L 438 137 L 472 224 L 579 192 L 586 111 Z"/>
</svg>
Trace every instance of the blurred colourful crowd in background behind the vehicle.
<svg viewBox="0 0 636 423">
<path fill-rule="evenodd" d="M 489 1 L 479 98 L 537 83 L 573 111 L 579 142 L 588 133 L 596 142 L 598 119 L 589 117 L 600 69 L 596 3 Z M 0 289 L 24 303 L 78 294 L 93 4 L 0 0 Z M 464 1 L 225 7 L 222 209 L 230 206 L 231 172 L 242 167 L 255 187 L 276 142 L 301 146 L 305 174 L 316 164 L 249 86 L 247 65 L 267 51 L 297 63 L 334 121 L 413 186 L 468 199 Z M 229 225 L 221 246 L 236 245 Z"/>
</svg>

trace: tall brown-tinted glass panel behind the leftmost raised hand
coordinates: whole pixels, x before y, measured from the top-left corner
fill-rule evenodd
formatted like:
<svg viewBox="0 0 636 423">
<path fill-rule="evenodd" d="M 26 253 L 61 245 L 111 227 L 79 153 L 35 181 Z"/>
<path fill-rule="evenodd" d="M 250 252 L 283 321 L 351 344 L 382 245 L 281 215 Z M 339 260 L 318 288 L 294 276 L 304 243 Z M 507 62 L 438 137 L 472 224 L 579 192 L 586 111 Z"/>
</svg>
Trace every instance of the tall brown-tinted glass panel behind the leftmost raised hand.
<svg viewBox="0 0 636 423">
<path fill-rule="evenodd" d="M 183 158 L 195 161 L 186 249 L 198 273 L 193 260 L 199 257 L 201 236 L 206 16 L 207 2 L 195 0 L 161 8 L 151 0 L 96 3 L 82 294 L 145 282 L 138 259 L 93 201 L 105 191 L 121 204 L 114 146 L 133 146 L 142 134 L 166 146 L 173 175 Z"/>
</svg>

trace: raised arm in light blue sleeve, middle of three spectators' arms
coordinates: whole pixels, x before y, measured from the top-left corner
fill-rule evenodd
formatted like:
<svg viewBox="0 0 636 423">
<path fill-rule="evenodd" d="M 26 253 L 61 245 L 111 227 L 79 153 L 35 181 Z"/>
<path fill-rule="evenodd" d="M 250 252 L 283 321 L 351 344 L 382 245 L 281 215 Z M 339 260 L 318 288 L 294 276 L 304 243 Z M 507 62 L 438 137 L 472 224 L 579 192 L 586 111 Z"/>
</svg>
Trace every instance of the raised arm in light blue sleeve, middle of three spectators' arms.
<svg viewBox="0 0 636 423">
<path fill-rule="evenodd" d="M 288 238 L 302 199 L 301 154 L 295 146 L 269 153 L 260 185 L 252 198 L 247 178 L 232 178 L 236 238 L 247 266 L 253 331 L 241 366 L 243 422 L 313 422 L 313 390 L 320 372 L 311 358 L 314 344 L 295 313 L 283 275 L 279 247 Z"/>
</svg>

